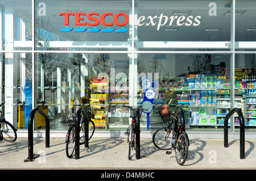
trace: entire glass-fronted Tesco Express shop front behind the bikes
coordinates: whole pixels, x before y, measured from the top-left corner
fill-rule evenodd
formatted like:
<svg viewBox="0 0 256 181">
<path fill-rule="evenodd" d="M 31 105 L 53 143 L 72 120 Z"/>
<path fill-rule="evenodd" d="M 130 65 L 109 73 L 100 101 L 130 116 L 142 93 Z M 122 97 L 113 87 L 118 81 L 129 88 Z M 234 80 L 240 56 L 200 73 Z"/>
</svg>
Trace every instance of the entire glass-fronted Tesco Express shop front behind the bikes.
<svg viewBox="0 0 256 181">
<path fill-rule="evenodd" d="M 84 104 L 94 108 L 95 137 L 124 137 L 130 118 L 123 106 L 150 100 L 141 137 L 151 137 L 165 125 L 156 108 L 170 89 L 189 137 L 223 137 L 225 116 L 235 107 L 245 117 L 246 137 L 255 137 L 255 10 L 255 0 L 3 0 L 3 114 L 26 137 L 28 116 L 39 107 L 51 137 L 63 137 L 73 104 Z M 44 136 L 40 115 L 34 131 Z M 229 134 L 239 133 L 234 114 Z"/>
</svg>

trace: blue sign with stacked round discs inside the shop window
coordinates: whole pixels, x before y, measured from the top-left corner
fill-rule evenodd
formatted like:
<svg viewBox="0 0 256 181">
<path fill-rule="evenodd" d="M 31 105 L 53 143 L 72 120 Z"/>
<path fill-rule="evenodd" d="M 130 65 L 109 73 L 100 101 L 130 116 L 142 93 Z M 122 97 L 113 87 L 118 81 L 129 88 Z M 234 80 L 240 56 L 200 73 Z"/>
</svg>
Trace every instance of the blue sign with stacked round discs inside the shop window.
<svg viewBox="0 0 256 181">
<path fill-rule="evenodd" d="M 155 99 L 156 95 L 154 85 L 154 82 L 147 78 L 143 79 L 141 82 L 141 87 L 144 91 L 144 98 L 141 107 L 147 110 L 143 110 L 144 113 L 147 113 L 147 129 L 149 129 L 150 125 L 150 112 L 152 112 L 152 110 L 154 109 L 153 100 Z"/>
</svg>

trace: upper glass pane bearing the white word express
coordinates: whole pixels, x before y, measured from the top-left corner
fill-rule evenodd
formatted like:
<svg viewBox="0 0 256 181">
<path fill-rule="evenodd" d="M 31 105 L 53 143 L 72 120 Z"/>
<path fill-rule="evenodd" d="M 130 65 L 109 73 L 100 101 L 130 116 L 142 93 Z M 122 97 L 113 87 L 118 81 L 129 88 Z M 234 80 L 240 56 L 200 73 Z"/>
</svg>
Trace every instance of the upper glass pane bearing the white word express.
<svg viewBox="0 0 256 181">
<path fill-rule="evenodd" d="M 135 2 L 139 50 L 229 49 L 230 1 Z"/>
</svg>

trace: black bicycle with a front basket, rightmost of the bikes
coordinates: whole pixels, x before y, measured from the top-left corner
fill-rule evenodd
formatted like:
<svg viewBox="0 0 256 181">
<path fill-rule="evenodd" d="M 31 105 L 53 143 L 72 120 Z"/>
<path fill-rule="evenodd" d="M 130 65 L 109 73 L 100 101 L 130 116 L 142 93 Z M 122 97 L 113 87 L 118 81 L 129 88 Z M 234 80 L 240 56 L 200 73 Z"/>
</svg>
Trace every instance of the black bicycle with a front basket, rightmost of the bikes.
<svg viewBox="0 0 256 181">
<path fill-rule="evenodd" d="M 166 154 L 171 154 L 172 150 L 174 150 L 177 163 L 183 165 L 188 157 L 189 139 L 184 129 L 184 123 L 178 123 L 179 116 L 171 110 L 171 107 L 163 106 L 159 108 L 159 115 L 163 122 L 167 123 L 167 127 L 156 130 L 152 140 L 156 148 L 170 150 L 166 151 Z"/>
</svg>

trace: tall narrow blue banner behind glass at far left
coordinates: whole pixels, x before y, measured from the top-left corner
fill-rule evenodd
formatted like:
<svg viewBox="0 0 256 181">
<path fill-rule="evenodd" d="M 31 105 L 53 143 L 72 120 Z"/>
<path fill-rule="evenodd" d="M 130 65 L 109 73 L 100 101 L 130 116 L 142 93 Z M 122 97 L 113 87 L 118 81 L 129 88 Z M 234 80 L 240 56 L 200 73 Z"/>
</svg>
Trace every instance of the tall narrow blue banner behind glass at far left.
<svg viewBox="0 0 256 181">
<path fill-rule="evenodd" d="M 25 129 L 28 128 L 28 118 L 30 117 L 30 112 L 32 111 L 32 77 L 26 77 L 26 83 L 24 88 L 25 93 Z"/>
</svg>

